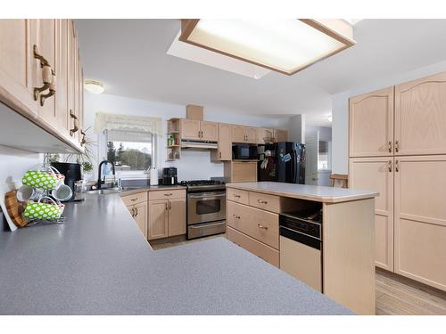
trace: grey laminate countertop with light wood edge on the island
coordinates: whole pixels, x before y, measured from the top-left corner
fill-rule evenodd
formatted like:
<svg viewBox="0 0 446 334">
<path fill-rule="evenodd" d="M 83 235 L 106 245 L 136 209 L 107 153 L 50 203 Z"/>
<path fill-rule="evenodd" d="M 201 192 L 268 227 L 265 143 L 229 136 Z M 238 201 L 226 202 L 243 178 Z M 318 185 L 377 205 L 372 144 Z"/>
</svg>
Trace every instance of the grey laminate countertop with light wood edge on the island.
<svg viewBox="0 0 446 334">
<path fill-rule="evenodd" d="M 376 191 L 279 182 L 227 183 L 226 186 L 227 188 L 256 191 L 300 200 L 314 200 L 323 203 L 365 200 L 379 195 L 379 192 Z"/>
</svg>

